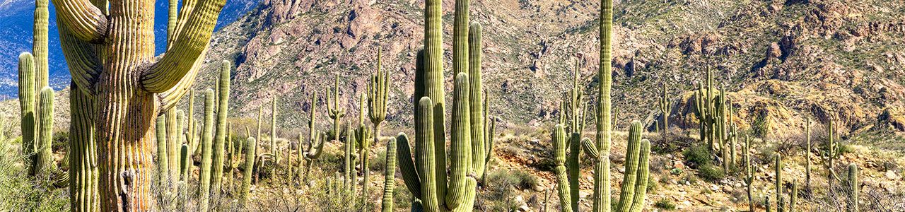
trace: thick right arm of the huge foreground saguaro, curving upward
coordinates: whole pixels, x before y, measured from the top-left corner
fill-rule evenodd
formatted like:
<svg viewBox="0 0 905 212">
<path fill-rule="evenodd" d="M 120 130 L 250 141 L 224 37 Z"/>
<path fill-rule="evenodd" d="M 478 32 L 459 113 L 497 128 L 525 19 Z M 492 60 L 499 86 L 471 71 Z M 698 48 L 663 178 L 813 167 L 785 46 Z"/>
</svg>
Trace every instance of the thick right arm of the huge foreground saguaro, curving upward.
<svg viewBox="0 0 905 212">
<path fill-rule="evenodd" d="M 196 72 L 197 61 L 204 59 L 207 45 L 214 31 L 217 15 L 225 0 L 200 0 L 188 14 L 176 42 L 159 61 L 141 74 L 142 87 L 148 92 L 167 92 L 181 82 L 189 72 Z"/>
</svg>

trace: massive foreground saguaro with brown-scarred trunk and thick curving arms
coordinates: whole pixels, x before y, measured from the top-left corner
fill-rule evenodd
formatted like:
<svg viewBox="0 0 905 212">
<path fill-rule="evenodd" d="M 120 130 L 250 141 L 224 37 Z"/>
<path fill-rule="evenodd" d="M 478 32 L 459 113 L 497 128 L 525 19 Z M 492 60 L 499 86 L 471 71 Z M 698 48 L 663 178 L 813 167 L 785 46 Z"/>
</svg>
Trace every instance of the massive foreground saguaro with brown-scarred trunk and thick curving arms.
<svg viewBox="0 0 905 212">
<path fill-rule="evenodd" d="M 184 2 L 176 15 L 172 44 L 167 53 L 155 57 L 155 11 L 147 9 L 154 8 L 155 1 L 53 0 L 63 54 L 68 64 L 80 66 L 70 68 L 72 82 L 78 92 L 92 97 L 98 110 L 92 120 L 100 133 L 95 137 L 100 210 L 151 209 L 153 166 L 148 164 L 153 163 L 154 119 L 194 83 L 224 2 Z M 46 23 L 44 11 L 36 11 L 42 13 L 36 25 Z M 46 28 L 35 33 L 46 38 Z M 38 63 L 45 64 L 46 47 L 36 49 Z M 42 83 L 40 69 L 46 65 L 38 67 Z"/>
</svg>

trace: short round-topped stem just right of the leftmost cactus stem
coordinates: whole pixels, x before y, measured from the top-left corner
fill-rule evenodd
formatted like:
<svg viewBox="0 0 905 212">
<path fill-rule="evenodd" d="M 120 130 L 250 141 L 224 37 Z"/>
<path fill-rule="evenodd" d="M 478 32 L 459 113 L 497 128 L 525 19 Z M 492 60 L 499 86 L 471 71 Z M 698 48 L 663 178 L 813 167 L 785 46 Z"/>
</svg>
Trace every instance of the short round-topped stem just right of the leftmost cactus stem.
<svg viewBox="0 0 905 212">
<path fill-rule="evenodd" d="M 37 176 L 49 177 L 51 165 L 53 165 L 53 89 L 44 87 L 41 89 L 40 109 L 38 109 L 38 152 L 33 165 Z"/>
</svg>

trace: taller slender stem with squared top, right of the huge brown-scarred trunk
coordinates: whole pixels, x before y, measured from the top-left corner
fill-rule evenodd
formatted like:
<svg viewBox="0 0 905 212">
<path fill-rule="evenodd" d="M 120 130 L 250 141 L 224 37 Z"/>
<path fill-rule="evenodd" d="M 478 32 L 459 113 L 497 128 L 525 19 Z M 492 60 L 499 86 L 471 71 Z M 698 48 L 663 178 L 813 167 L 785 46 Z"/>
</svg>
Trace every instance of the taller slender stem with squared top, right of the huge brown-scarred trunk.
<svg viewBox="0 0 905 212">
<path fill-rule="evenodd" d="M 214 140 L 214 164 L 211 172 L 212 192 L 220 192 L 224 176 L 224 144 L 226 143 L 226 117 L 229 113 L 230 69 L 229 61 L 223 61 L 220 69 L 220 82 L 217 89 L 217 131 Z"/>
</svg>

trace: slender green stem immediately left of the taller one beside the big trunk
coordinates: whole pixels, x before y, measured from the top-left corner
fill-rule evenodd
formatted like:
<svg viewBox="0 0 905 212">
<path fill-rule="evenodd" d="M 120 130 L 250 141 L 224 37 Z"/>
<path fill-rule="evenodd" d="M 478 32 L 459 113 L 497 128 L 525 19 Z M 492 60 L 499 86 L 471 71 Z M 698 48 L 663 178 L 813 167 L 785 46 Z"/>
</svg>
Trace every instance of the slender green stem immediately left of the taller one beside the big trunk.
<svg viewBox="0 0 905 212">
<path fill-rule="evenodd" d="M 208 206 L 208 198 L 211 194 L 211 158 L 213 157 L 213 134 L 214 134 L 214 90 L 207 89 L 205 91 L 205 125 L 202 129 L 203 139 L 201 140 L 201 168 L 198 176 L 198 189 L 201 196 L 198 201 L 200 211 L 206 211 Z"/>
</svg>

